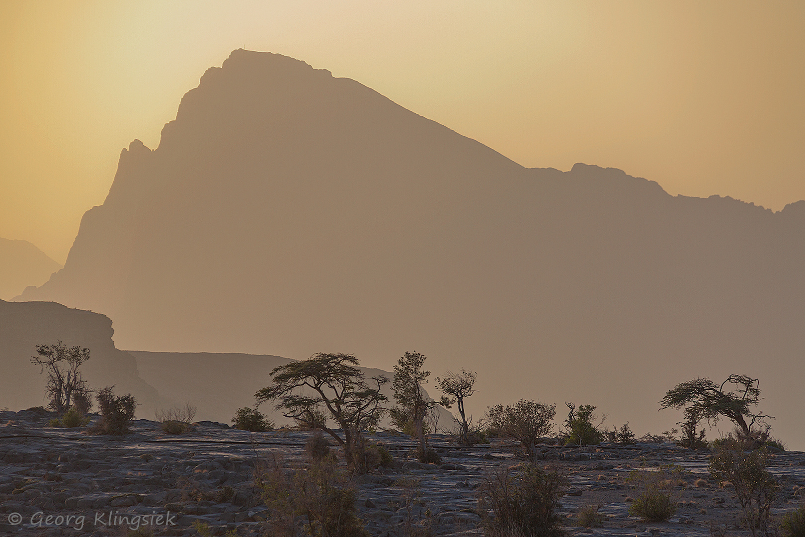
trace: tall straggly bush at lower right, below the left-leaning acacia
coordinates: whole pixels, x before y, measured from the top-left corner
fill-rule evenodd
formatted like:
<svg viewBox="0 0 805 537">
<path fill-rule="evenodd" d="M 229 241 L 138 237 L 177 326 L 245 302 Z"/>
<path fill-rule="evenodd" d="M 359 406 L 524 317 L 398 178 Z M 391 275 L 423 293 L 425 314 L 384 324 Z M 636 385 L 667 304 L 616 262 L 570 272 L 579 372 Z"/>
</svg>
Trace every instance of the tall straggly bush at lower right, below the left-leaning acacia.
<svg viewBox="0 0 805 537">
<path fill-rule="evenodd" d="M 773 535 L 771 506 L 778 498 L 780 487 L 766 470 L 766 450 L 747 450 L 746 446 L 746 441 L 721 440 L 710 459 L 710 475 L 715 481 L 733 484 L 744 511 L 744 522 L 752 535 Z"/>
</svg>

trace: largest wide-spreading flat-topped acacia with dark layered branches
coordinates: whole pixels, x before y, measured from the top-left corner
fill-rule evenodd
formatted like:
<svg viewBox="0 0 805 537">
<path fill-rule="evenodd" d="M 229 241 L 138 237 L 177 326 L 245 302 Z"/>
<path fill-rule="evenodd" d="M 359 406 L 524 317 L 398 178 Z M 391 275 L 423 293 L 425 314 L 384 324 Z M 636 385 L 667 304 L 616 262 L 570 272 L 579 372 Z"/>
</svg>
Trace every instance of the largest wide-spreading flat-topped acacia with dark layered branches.
<svg viewBox="0 0 805 537">
<path fill-rule="evenodd" d="M 386 377 L 372 377 L 371 386 L 357 367 L 357 358 L 344 353 L 316 353 L 303 361 L 292 361 L 271 370 L 273 384 L 258 390 L 258 405 L 275 402 L 275 410 L 283 410 L 287 418 L 310 427 L 321 428 L 344 448 L 348 464 L 355 462 L 363 448 L 362 432 L 374 427 L 382 417 L 382 403 L 388 398 L 380 387 Z M 316 395 L 305 393 L 305 388 Z M 321 405 L 341 428 L 344 438 L 326 423 L 314 418 Z"/>
</svg>

